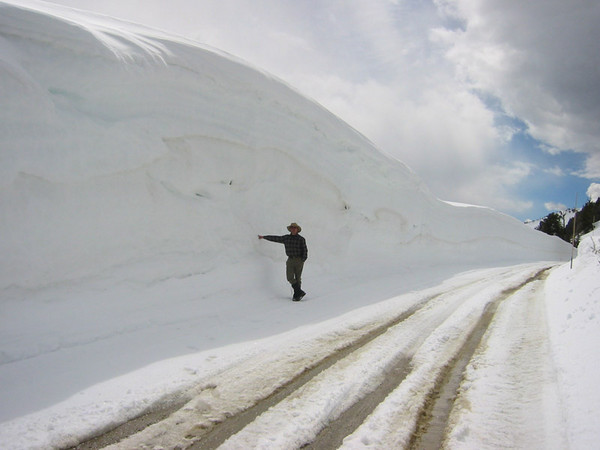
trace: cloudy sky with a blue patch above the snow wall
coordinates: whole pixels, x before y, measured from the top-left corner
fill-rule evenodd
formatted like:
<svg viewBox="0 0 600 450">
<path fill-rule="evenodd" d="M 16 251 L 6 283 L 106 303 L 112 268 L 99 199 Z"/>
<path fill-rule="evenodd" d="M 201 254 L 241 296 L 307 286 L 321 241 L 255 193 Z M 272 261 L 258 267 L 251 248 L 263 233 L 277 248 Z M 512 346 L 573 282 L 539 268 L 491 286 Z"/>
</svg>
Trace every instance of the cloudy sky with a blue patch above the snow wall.
<svg viewBox="0 0 600 450">
<path fill-rule="evenodd" d="M 521 220 L 600 182 L 597 0 L 55 0 L 266 70 L 437 197 Z"/>
</svg>

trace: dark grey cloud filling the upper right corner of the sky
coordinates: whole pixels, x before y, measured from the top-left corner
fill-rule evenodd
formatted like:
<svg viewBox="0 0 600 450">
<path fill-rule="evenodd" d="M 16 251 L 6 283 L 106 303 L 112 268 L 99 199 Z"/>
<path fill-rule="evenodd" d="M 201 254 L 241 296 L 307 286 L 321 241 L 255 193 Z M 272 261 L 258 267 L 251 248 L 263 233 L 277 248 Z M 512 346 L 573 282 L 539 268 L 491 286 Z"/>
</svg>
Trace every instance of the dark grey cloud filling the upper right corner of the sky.
<svg viewBox="0 0 600 450">
<path fill-rule="evenodd" d="M 465 82 L 499 98 L 549 146 L 600 153 L 600 3 L 436 3 L 462 21 L 461 28 L 442 28 L 437 36 Z"/>
</svg>

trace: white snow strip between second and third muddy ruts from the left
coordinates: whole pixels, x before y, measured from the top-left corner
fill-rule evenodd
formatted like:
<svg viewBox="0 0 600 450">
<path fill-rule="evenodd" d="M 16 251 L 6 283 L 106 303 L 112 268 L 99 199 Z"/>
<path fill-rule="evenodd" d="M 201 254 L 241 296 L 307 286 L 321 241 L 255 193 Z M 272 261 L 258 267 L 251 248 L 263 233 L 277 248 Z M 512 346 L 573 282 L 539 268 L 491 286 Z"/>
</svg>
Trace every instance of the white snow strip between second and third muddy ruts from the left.
<svg viewBox="0 0 600 450">
<path fill-rule="evenodd" d="M 343 412 L 350 411 L 347 416 L 356 419 L 356 411 L 350 408 L 355 406 L 353 402 L 359 395 L 367 394 L 363 403 L 370 404 L 373 409 L 377 401 L 373 402 L 370 396 L 382 395 L 377 387 L 394 368 L 406 367 L 406 360 L 415 350 L 427 347 L 424 345 L 427 341 L 433 341 L 433 345 L 429 345 L 431 348 L 426 348 L 427 353 L 438 351 L 441 353 L 440 360 L 447 362 L 447 359 L 452 359 L 462 348 L 465 335 L 479 324 L 482 310 L 504 295 L 507 285 L 519 286 L 524 280 L 522 270 L 513 269 L 512 272 L 496 275 L 501 282 L 481 279 L 467 287 L 451 289 L 430 301 L 405 321 L 390 327 L 376 340 L 311 379 L 302 389 L 266 411 L 220 448 L 305 448 L 322 429 L 341 428 L 347 433 L 348 424 L 343 419 Z M 456 323 L 452 323 L 449 327 L 445 326 L 447 319 L 455 314 L 460 315 L 461 325 L 457 327 Z M 395 351 L 392 351 L 393 348 Z M 418 377 L 428 381 L 433 374 L 435 382 L 436 374 L 446 363 L 442 363 L 441 367 L 430 363 L 421 365 L 413 358 L 412 364 L 421 367 L 413 370 L 411 375 L 417 372 Z M 400 369 L 402 371 L 405 372 Z M 402 377 L 398 377 L 387 389 L 393 389 L 402 381 Z M 369 408 L 363 409 L 368 414 Z M 338 418 L 341 419 L 336 421 Z M 313 448 L 337 448 L 339 444 L 338 441 L 317 439 L 319 441 L 314 443 Z"/>
</svg>

